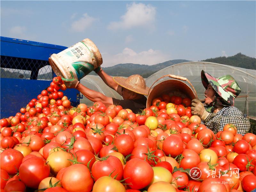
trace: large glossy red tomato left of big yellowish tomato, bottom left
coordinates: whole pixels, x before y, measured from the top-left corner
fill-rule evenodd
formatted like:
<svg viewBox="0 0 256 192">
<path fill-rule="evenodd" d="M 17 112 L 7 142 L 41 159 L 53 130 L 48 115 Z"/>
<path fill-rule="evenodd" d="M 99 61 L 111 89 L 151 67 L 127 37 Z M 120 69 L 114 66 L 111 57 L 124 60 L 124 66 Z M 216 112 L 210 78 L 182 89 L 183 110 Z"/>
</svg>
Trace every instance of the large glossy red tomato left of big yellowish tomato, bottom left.
<svg viewBox="0 0 256 192">
<path fill-rule="evenodd" d="M 32 157 L 20 165 L 20 180 L 28 187 L 37 188 L 50 174 L 50 166 L 41 157 Z"/>
</svg>

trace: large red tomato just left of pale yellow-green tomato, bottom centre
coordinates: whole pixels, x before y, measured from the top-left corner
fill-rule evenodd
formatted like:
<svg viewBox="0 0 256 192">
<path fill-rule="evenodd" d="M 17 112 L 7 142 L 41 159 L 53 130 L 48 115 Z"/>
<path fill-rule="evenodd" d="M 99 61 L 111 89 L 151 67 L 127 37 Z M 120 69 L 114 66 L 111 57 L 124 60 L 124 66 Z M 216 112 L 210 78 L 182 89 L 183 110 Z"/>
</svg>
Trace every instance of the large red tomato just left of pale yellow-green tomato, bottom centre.
<svg viewBox="0 0 256 192">
<path fill-rule="evenodd" d="M 142 189 L 151 182 L 154 176 L 152 167 L 144 160 L 135 158 L 128 161 L 124 167 L 125 183 L 132 189 Z"/>
</svg>

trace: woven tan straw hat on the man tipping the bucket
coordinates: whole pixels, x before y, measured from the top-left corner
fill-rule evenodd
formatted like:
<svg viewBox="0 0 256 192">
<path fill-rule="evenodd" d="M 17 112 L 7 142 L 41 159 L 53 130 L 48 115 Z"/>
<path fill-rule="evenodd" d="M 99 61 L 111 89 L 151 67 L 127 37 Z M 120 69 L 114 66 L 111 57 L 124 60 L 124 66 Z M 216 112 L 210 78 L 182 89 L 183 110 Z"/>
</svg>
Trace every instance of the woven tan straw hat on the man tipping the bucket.
<svg viewBox="0 0 256 192">
<path fill-rule="evenodd" d="M 148 95 L 149 88 L 146 86 L 145 80 L 140 75 L 131 75 L 128 78 L 113 77 L 113 79 L 117 84 L 126 89 L 142 95 Z"/>
</svg>

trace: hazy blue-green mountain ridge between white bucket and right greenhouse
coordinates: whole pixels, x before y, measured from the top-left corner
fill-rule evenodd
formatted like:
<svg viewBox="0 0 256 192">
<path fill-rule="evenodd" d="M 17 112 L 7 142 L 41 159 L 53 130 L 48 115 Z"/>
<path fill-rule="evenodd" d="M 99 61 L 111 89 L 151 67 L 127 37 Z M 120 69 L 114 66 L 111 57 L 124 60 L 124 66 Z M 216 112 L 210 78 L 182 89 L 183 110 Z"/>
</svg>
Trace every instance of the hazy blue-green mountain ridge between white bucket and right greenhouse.
<svg viewBox="0 0 256 192">
<path fill-rule="evenodd" d="M 103 67 L 104 71 L 110 76 L 125 76 L 128 77 L 134 74 L 140 74 L 144 78 L 149 77 L 150 75 L 154 74 L 155 72 L 166 68 L 168 66 L 187 62 L 189 60 L 169 60 L 163 63 L 158 63 L 155 65 L 140 65 L 140 64 L 133 64 L 133 63 L 124 63 L 124 64 L 117 64 L 112 67 Z M 96 75 L 94 72 L 90 73 L 90 75 Z"/>
</svg>

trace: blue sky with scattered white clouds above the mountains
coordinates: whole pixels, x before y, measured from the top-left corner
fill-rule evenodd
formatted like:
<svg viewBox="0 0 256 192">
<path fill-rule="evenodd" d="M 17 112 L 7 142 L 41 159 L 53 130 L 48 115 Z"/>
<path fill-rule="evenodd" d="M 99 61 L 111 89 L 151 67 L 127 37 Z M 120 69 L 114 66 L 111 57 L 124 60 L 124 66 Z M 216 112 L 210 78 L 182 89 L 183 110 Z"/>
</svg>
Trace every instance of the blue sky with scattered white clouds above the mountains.
<svg viewBox="0 0 256 192">
<path fill-rule="evenodd" d="M 99 48 L 102 67 L 256 56 L 256 1 L 1 1 L 1 36 Z"/>
</svg>

